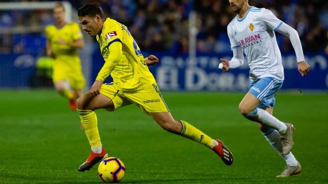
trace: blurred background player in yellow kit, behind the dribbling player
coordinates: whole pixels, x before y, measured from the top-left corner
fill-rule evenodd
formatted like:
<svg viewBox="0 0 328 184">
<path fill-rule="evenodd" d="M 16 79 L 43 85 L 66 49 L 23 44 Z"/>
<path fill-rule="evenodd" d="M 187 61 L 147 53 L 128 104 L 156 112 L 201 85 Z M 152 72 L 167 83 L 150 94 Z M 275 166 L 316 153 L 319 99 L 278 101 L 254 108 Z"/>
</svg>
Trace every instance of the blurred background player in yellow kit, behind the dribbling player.
<svg viewBox="0 0 328 184">
<path fill-rule="evenodd" d="M 65 22 L 65 8 L 62 3 L 56 3 L 53 8 L 55 23 L 45 28 L 47 36 L 47 56 L 54 58 L 52 81 L 56 90 L 69 98 L 70 108 L 76 110 L 75 99 L 83 95 L 85 78 L 77 49 L 85 43 L 78 23 Z M 69 81 L 73 92 L 67 89 L 65 82 Z"/>
</svg>

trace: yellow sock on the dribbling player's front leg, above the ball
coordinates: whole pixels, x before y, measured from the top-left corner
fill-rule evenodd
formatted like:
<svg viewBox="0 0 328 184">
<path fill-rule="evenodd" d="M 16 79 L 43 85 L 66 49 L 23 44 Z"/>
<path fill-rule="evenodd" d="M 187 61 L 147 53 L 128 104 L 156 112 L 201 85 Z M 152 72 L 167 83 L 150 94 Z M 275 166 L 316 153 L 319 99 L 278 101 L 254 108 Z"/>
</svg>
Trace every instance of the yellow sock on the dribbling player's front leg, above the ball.
<svg viewBox="0 0 328 184">
<path fill-rule="evenodd" d="M 101 146 L 96 113 L 91 110 L 77 110 L 77 113 L 85 129 L 91 148 Z"/>
</svg>

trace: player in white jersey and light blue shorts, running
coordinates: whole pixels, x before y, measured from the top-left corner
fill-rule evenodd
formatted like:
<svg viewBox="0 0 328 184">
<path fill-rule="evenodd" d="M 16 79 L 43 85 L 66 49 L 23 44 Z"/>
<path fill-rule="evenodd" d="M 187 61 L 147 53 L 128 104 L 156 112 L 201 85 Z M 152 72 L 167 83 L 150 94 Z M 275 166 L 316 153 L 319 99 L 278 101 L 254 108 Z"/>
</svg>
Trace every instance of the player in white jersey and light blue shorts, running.
<svg viewBox="0 0 328 184">
<path fill-rule="evenodd" d="M 290 152 L 294 126 L 272 116 L 276 92 L 284 81 L 284 69 L 275 31 L 289 37 L 295 50 L 298 71 L 304 76 L 310 71 L 305 62 L 298 33 L 265 8 L 249 6 L 248 0 L 229 0 L 237 16 L 227 31 L 233 58 L 220 59 L 222 71 L 243 64 L 243 53 L 250 67 L 250 90 L 239 104 L 239 112 L 258 126 L 270 145 L 285 159 L 287 166 L 277 177 L 299 174 L 302 168 Z"/>
</svg>

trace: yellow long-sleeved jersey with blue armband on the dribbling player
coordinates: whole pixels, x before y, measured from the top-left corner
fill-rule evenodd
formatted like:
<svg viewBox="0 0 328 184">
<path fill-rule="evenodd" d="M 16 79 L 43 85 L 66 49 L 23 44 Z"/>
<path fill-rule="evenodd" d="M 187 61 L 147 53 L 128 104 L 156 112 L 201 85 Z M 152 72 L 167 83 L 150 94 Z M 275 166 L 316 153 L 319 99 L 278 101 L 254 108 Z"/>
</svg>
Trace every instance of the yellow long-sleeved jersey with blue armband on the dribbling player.
<svg viewBox="0 0 328 184">
<path fill-rule="evenodd" d="M 114 84 L 123 91 L 138 90 L 156 83 L 138 44 L 125 25 L 106 18 L 96 39 L 105 61 L 96 80 L 104 81 L 111 75 Z"/>
</svg>

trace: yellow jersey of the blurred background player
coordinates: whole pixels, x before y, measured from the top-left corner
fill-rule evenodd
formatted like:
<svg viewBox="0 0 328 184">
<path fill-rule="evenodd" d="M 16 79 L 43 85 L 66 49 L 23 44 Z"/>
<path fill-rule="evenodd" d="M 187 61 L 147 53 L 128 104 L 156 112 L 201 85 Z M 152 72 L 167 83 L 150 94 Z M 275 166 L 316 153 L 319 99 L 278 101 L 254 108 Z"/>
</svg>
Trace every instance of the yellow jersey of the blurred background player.
<svg viewBox="0 0 328 184">
<path fill-rule="evenodd" d="M 58 39 L 61 38 L 67 42 L 74 42 L 83 38 L 80 27 L 75 22 L 68 22 L 62 28 L 56 25 L 47 25 L 45 34 L 49 40 L 54 54 L 53 67 L 71 69 L 71 71 L 81 70 L 81 63 L 78 57 L 77 48 L 59 44 Z"/>
</svg>

